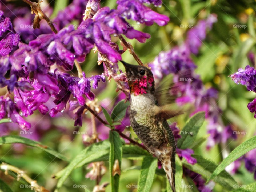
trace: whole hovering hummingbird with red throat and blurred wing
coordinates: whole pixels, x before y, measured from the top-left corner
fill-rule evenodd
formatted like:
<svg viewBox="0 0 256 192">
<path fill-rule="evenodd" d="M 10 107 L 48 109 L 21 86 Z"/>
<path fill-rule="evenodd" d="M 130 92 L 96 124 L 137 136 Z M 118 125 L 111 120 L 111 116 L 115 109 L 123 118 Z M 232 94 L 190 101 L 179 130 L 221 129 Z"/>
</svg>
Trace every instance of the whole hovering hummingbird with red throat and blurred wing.
<svg viewBox="0 0 256 192">
<path fill-rule="evenodd" d="M 160 160 L 175 192 L 176 143 L 166 119 L 179 112 L 170 109 L 169 105 L 158 104 L 154 77 L 149 68 L 121 62 L 125 66 L 131 94 L 128 107 L 131 127 L 146 149 Z"/>
</svg>

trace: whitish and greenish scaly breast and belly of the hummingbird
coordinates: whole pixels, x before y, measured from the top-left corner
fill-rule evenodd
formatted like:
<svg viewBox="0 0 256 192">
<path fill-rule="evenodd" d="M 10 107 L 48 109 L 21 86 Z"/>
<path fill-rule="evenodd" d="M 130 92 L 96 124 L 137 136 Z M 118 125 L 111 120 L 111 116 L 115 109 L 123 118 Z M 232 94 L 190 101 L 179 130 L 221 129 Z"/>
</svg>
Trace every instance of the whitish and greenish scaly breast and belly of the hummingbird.
<svg viewBox="0 0 256 192">
<path fill-rule="evenodd" d="M 155 105 L 157 105 L 156 98 L 152 94 L 131 94 L 131 105 L 128 109 L 133 130 L 153 154 L 159 150 L 162 151 L 168 144 L 166 130 L 163 127 L 166 120 L 157 119 L 153 116 L 152 109 Z"/>
</svg>

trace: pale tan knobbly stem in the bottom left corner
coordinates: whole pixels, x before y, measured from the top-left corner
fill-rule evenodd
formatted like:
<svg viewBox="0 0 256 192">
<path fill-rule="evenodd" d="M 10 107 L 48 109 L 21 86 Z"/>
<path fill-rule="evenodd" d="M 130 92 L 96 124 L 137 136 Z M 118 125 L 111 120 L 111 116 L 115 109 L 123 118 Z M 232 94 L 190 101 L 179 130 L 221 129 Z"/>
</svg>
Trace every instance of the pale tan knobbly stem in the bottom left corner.
<svg viewBox="0 0 256 192">
<path fill-rule="evenodd" d="M 25 181 L 27 181 L 30 184 L 31 190 L 34 189 L 36 192 L 50 192 L 44 187 L 38 185 L 37 181 L 31 179 L 27 174 L 25 174 L 25 171 L 22 171 L 17 167 L 14 167 L 6 163 L 1 163 L 0 169 L 5 170 L 6 175 L 8 174 L 8 171 L 13 171 L 17 173 L 17 181 L 19 181 L 19 179 L 22 177 L 23 179 L 25 179 Z"/>
</svg>

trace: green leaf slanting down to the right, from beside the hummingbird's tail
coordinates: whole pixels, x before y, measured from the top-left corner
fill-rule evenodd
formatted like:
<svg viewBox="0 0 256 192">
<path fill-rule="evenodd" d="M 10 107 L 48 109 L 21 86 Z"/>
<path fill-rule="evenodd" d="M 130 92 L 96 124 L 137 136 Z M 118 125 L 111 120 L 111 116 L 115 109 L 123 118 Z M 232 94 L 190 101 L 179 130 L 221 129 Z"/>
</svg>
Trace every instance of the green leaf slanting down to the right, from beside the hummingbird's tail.
<svg viewBox="0 0 256 192">
<path fill-rule="evenodd" d="M 204 178 L 209 179 L 213 171 L 218 166 L 217 163 L 205 159 L 200 155 L 193 155 L 197 159 L 197 163 L 194 165 L 189 164 L 185 159 L 182 160 L 182 164 L 188 169 L 199 173 Z M 229 175 L 225 170 L 223 170 L 218 177 L 213 178 L 213 181 L 219 183 L 222 187 L 227 190 L 233 190 L 233 185 L 237 185 L 237 182 Z"/>
</svg>

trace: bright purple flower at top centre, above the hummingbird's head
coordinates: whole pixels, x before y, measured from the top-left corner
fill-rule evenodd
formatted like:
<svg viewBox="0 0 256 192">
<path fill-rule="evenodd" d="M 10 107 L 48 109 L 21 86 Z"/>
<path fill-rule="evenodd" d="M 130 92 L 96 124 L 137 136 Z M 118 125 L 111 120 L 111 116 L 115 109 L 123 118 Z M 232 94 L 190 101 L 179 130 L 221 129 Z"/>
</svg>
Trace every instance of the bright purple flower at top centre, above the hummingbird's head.
<svg viewBox="0 0 256 192">
<path fill-rule="evenodd" d="M 161 1 L 145 1 L 146 3 L 154 3 L 155 5 L 161 5 Z M 166 25 L 169 22 L 169 17 L 159 14 L 150 8 L 143 5 L 144 1 L 140 0 L 118 0 L 117 10 L 124 15 L 127 19 L 133 19 L 146 25 L 153 25 L 157 23 L 160 26 Z M 127 26 L 130 27 L 131 25 Z"/>
</svg>

